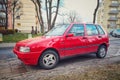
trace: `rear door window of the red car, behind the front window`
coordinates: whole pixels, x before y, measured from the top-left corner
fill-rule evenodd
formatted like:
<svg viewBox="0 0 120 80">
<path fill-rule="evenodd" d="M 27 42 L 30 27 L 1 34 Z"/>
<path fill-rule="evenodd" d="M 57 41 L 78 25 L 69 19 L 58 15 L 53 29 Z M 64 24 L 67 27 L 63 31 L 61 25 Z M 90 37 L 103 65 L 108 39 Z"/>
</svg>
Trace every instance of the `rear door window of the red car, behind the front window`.
<svg viewBox="0 0 120 80">
<path fill-rule="evenodd" d="M 87 24 L 86 29 L 88 36 L 98 35 L 98 30 L 95 25 Z"/>
</svg>

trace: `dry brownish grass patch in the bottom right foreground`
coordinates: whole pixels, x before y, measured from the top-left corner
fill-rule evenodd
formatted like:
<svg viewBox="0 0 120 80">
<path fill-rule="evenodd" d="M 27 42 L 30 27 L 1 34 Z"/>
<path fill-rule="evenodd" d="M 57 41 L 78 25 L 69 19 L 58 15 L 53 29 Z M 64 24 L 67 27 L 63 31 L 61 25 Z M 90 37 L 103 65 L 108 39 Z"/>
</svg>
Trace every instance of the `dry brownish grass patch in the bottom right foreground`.
<svg viewBox="0 0 120 80">
<path fill-rule="evenodd" d="M 89 69 L 84 73 L 71 73 L 43 80 L 120 80 L 120 64 L 108 65 L 101 68 Z"/>
</svg>

